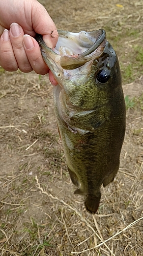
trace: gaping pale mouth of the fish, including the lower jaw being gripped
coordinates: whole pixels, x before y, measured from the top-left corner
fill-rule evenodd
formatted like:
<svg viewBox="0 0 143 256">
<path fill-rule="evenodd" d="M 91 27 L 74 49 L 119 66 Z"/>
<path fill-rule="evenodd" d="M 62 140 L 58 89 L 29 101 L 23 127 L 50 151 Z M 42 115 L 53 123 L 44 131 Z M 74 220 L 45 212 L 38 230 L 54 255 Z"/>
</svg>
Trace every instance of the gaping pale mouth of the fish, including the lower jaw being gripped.
<svg viewBox="0 0 143 256">
<path fill-rule="evenodd" d="M 79 33 L 58 30 L 58 33 L 54 51 L 46 46 L 40 34 L 36 35 L 43 59 L 58 82 L 64 70 L 74 70 L 97 58 L 106 44 L 106 32 L 102 29 Z"/>
</svg>

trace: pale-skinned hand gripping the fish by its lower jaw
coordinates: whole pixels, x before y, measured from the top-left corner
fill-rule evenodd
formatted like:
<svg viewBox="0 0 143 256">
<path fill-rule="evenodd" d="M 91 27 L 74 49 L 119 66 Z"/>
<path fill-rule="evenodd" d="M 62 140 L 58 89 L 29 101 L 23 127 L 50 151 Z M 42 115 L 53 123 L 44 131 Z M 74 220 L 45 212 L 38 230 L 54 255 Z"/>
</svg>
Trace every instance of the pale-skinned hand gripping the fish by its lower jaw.
<svg viewBox="0 0 143 256">
<path fill-rule="evenodd" d="M 45 75 L 57 84 L 44 62 L 36 33 L 43 35 L 47 46 L 54 48 L 58 32 L 46 9 L 36 0 L 0 1 L 0 65 L 7 71 L 31 72 Z"/>
</svg>

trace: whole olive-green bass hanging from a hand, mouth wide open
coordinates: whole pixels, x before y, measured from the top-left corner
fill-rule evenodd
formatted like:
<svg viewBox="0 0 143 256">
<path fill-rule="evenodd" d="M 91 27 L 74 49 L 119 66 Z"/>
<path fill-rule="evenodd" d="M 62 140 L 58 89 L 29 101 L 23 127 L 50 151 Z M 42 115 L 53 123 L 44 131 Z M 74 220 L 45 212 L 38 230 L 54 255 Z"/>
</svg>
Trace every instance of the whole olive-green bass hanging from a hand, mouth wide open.
<svg viewBox="0 0 143 256">
<path fill-rule="evenodd" d="M 68 172 L 84 197 L 85 209 L 98 210 L 101 185 L 113 181 L 120 165 L 126 129 L 122 76 L 115 50 L 103 29 L 58 31 L 55 50 L 37 34 L 41 54 L 58 85 L 53 104 Z"/>
</svg>

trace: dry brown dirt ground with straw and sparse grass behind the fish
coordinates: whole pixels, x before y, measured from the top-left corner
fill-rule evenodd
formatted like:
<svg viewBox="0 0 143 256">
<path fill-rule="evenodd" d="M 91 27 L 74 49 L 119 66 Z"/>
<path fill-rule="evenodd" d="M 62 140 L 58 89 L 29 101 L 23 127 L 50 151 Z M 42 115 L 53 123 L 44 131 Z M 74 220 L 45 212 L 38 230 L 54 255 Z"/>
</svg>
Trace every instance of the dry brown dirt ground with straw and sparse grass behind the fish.
<svg viewBox="0 0 143 256">
<path fill-rule="evenodd" d="M 0 254 L 143 255 L 143 2 L 40 3 L 58 29 L 106 30 L 122 70 L 126 136 L 118 175 L 92 216 L 73 196 L 48 75 L 0 69 Z"/>
</svg>

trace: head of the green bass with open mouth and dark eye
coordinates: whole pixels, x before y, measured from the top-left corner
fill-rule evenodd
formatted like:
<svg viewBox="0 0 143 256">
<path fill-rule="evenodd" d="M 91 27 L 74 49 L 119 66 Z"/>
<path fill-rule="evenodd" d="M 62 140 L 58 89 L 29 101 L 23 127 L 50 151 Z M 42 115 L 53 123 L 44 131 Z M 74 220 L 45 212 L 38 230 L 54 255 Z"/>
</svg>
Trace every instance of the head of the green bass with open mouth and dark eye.
<svg viewBox="0 0 143 256">
<path fill-rule="evenodd" d="M 54 51 L 39 35 L 36 39 L 43 59 L 60 85 L 63 101 L 81 111 L 108 104 L 121 87 L 121 72 L 105 31 L 58 32 Z"/>
</svg>

